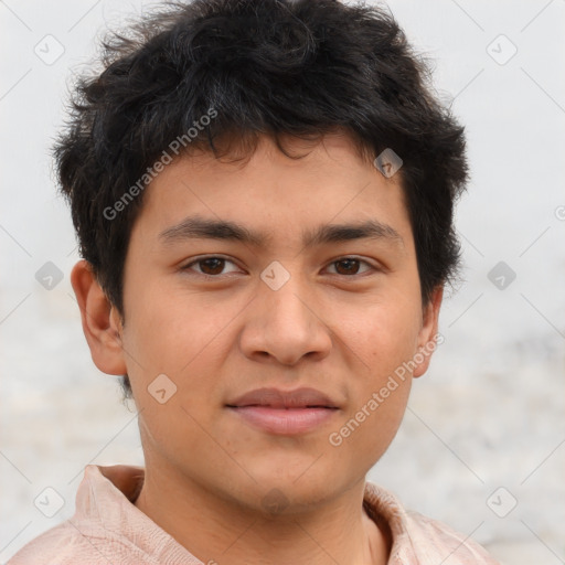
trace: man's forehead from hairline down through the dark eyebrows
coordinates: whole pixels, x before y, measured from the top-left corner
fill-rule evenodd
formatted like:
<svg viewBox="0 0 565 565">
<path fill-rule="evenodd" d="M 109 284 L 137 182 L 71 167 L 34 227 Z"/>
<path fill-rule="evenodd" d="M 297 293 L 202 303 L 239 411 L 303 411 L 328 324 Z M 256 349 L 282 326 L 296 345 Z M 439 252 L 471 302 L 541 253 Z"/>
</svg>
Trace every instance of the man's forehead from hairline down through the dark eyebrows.
<svg viewBox="0 0 565 565">
<path fill-rule="evenodd" d="M 287 148 L 301 157 L 289 158 L 264 137 L 244 160 L 209 152 L 177 159 L 147 189 L 141 223 L 162 244 L 213 234 L 264 245 L 297 226 L 305 245 L 364 235 L 403 241 L 399 174 L 383 177 L 347 136 Z M 330 221 L 340 227 L 328 227 Z"/>
</svg>

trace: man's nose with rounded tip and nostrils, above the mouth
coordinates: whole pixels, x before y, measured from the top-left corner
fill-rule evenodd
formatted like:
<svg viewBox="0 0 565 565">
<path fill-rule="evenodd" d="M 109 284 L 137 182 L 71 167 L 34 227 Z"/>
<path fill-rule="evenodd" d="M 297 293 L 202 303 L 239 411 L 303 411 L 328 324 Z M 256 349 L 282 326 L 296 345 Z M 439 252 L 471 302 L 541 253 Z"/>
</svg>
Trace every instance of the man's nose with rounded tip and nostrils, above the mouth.
<svg viewBox="0 0 565 565">
<path fill-rule="evenodd" d="M 247 308 L 241 334 L 245 355 L 254 361 L 296 365 L 302 359 L 322 360 L 332 347 L 332 332 L 323 320 L 323 305 L 299 276 L 277 290 L 259 282 Z"/>
</svg>

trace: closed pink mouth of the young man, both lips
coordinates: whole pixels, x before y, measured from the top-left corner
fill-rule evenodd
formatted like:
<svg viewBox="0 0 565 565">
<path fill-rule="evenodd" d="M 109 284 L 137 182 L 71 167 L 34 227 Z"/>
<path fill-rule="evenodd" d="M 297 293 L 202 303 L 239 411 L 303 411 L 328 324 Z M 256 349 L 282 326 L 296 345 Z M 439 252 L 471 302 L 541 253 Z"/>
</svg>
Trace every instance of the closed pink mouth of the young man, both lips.
<svg viewBox="0 0 565 565">
<path fill-rule="evenodd" d="M 328 395 L 313 388 L 258 388 L 226 404 L 246 424 L 275 435 L 312 431 L 340 411 Z"/>
</svg>

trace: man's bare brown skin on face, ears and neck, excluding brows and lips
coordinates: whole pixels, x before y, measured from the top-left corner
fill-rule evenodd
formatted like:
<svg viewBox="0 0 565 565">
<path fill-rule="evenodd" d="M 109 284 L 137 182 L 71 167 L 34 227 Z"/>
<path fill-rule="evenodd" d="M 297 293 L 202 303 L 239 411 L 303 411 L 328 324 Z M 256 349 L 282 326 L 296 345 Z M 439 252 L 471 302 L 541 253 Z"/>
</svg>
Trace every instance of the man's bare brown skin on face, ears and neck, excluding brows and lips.
<svg viewBox="0 0 565 565">
<path fill-rule="evenodd" d="M 131 381 L 146 457 L 137 508 L 204 563 L 384 564 L 385 532 L 362 508 L 365 475 L 396 434 L 412 379 L 341 446 L 328 438 L 433 340 L 443 290 L 423 307 L 399 174 L 385 179 L 347 136 L 287 147 L 310 153 L 291 160 L 264 137 L 244 164 L 201 153 L 166 167 L 131 233 L 124 327 L 85 262 L 73 269 L 73 288 L 95 364 Z M 193 214 L 271 239 L 159 241 Z M 369 218 L 403 242 L 302 245 L 303 230 Z M 181 269 L 204 255 L 228 260 Z M 366 263 L 350 271 L 338 262 L 349 256 Z M 274 260 L 290 274 L 278 290 L 259 278 Z M 178 387 L 166 404 L 147 390 L 161 373 Z M 320 428 L 285 437 L 225 407 L 265 386 L 313 387 L 340 409 Z M 264 498 L 275 488 L 288 505 L 269 513 Z"/>
</svg>

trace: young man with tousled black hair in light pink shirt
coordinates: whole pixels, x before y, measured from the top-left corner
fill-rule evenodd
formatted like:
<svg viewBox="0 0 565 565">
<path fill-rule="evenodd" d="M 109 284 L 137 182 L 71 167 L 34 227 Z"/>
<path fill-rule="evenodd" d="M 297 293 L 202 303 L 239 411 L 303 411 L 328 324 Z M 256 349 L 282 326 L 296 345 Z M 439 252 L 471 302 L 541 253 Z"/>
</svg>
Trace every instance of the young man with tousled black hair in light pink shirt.
<svg viewBox="0 0 565 565">
<path fill-rule="evenodd" d="M 132 32 L 56 158 L 83 329 L 146 467 L 88 466 L 10 563 L 495 563 L 365 482 L 440 338 L 467 178 L 394 19 L 201 0 Z"/>
</svg>

